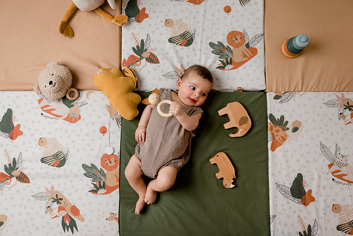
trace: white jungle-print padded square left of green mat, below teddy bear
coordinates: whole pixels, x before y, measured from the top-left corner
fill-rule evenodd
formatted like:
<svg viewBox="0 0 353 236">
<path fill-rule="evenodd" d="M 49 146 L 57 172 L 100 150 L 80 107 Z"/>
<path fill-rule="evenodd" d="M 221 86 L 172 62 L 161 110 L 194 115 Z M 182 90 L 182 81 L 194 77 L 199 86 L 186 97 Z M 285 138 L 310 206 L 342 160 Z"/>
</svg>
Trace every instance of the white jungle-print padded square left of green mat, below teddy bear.
<svg viewBox="0 0 353 236">
<path fill-rule="evenodd" d="M 0 234 L 116 235 L 121 116 L 103 93 L 0 97 Z"/>
</svg>

